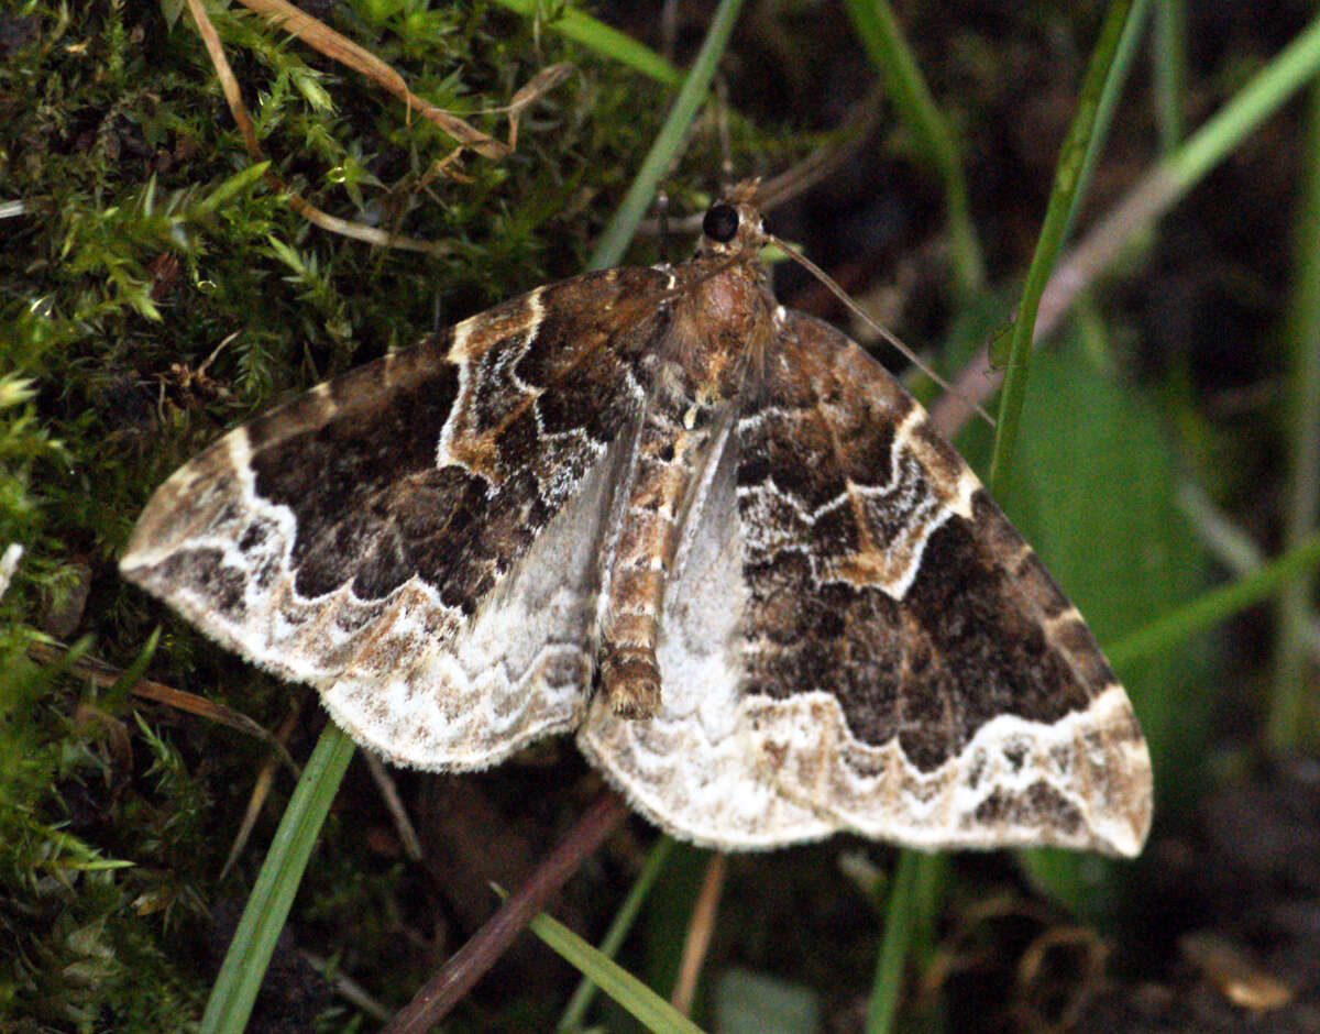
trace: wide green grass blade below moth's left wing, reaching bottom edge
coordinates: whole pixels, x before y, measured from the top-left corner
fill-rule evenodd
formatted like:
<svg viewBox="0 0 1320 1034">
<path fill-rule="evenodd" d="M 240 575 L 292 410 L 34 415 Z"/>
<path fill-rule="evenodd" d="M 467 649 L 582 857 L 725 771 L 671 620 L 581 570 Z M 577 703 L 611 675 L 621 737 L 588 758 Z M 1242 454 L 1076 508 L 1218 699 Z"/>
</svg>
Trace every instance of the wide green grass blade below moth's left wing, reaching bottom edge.
<svg viewBox="0 0 1320 1034">
<path fill-rule="evenodd" d="M 289 807 L 280 819 L 271 850 L 261 864 L 234 940 L 224 955 L 202 1016 L 203 1034 L 239 1034 L 247 1025 L 261 979 L 271 963 L 275 942 L 293 905 L 293 895 L 308 868 L 312 848 L 339 782 L 352 759 L 354 743 L 334 722 L 326 722 L 321 740 L 302 770 Z"/>
</svg>

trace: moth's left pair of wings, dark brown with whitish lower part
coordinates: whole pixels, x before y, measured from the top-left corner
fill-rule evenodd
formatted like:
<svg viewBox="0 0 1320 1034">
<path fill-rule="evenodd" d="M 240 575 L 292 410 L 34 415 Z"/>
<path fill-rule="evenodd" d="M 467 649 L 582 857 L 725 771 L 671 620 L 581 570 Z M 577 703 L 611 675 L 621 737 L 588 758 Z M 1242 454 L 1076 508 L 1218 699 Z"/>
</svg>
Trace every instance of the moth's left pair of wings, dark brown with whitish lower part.
<svg viewBox="0 0 1320 1034">
<path fill-rule="evenodd" d="M 669 284 L 541 288 L 231 432 L 157 490 L 123 572 L 396 762 L 572 728 Z"/>
</svg>

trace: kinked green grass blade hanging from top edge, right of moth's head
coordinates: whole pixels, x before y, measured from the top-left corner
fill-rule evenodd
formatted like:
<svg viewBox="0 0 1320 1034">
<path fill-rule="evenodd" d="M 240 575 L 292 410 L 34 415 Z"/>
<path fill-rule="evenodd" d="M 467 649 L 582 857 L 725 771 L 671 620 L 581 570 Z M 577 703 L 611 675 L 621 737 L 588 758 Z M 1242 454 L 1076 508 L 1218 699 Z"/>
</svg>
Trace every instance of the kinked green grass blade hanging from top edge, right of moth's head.
<svg viewBox="0 0 1320 1034">
<path fill-rule="evenodd" d="M 857 36 L 866 48 L 904 124 L 917 147 L 944 180 L 949 213 L 949 236 L 958 289 L 965 297 L 985 281 L 981 243 L 968 203 L 968 182 L 953 132 L 921 77 L 912 49 L 887 0 L 846 0 Z"/>
</svg>

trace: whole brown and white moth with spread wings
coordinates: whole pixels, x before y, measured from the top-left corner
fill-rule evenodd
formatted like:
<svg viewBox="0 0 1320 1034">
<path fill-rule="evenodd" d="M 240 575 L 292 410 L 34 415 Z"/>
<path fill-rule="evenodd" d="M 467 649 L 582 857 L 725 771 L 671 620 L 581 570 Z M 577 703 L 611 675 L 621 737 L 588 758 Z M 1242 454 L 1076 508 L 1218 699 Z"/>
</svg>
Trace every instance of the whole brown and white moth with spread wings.
<svg viewBox="0 0 1320 1034">
<path fill-rule="evenodd" d="M 230 432 L 124 576 L 399 765 L 576 730 L 715 848 L 1135 854 L 1150 758 L 1076 607 L 899 383 L 775 301 L 755 184 L 702 230 Z"/>
</svg>

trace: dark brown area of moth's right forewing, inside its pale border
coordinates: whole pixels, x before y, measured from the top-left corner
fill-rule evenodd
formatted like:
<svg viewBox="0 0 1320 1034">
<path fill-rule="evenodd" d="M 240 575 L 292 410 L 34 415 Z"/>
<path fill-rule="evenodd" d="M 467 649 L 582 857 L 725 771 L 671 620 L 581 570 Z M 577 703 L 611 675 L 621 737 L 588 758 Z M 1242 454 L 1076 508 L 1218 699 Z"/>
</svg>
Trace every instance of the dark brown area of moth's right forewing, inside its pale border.
<svg viewBox="0 0 1320 1034">
<path fill-rule="evenodd" d="M 1085 708 L 1107 683 L 1084 679 L 1098 650 L 1047 639 L 1041 610 L 1064 597 L 957 453 L 842 334 L 792 313 L 788 327 L 787 362 L 739 441 L 741 512 L 750 540 L 768 541 L 746 557 L 750 685 L 781 697 L 833 680 L 853 733 L 898 737 L 923 771 L 999 714 Z M 896 544 L 903 569 L 869 577 L 865 552 Z"/>
</svg>

